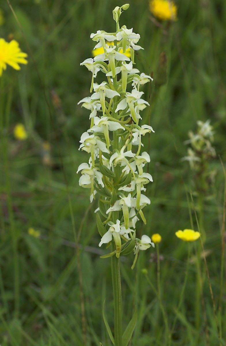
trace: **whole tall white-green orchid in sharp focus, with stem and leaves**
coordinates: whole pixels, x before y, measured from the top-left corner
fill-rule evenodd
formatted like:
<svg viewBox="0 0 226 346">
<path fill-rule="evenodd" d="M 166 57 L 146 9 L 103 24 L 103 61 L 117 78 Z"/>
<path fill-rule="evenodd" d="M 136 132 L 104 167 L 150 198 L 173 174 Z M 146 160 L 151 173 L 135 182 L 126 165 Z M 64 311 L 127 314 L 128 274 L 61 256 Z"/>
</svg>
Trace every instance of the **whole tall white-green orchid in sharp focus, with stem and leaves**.
<svg viewBox="0 0 226 346">
<path fill-rule="evenodd" d="M 150 199 L 144 194 L 145 185 L 153 181 L 151 174 L 143 171 L 145 164 L 150 162 L 150 156 L 145 151 L 141 153 L 141 139 L 154 131 L 151 126 L 139 125 L 140 111 L 149 106 L 142 99 L 144 92 L 139 88 L 152 78 L 144 73 L 139 75 L 139 70 L 133 68 L 134 51 L 143 49 L 137 45 L 140 35 L 125 25 L 119 27 L 121 12 L 128 7 L 129 4 L 125 4 L 113 11 L 117 25 L 115 33 L 98 30 L 91 34 L 92 40 L 97 42 L 94 49 L 102 47 L 104 53 L 81 63 L 92 72 L 90 92 L 94 92 L 79 102 L 91 111 L 91 125 L 82 134 L 79 148 L 90 154 L 89 164 L 82 163 L 77 173 L 81 171 L 82 174 L 80 186 L 91 189 L 90 201 L 99 195 L 96 210 L 101 235 L 99 246 L 111 244 L 111 252 L 102 257 L 112 258 L 115 338 L 107 322 L 106 327 L 116 346 L 128 344 L 136 323 L 135 313 L 122 335 L 119 256 L 134 251 L 133 268 L 138 252 L 151 245 L 154 247 L 147 235 L 136 238 L 136 222 L 141 218 L 146 224 L 143 208 L 150 204 Z M 128 48 L 130 58 L 125 55 Z M 106 79 L 98 84 L 94 79 L 100 72 Z"/>
</svg>

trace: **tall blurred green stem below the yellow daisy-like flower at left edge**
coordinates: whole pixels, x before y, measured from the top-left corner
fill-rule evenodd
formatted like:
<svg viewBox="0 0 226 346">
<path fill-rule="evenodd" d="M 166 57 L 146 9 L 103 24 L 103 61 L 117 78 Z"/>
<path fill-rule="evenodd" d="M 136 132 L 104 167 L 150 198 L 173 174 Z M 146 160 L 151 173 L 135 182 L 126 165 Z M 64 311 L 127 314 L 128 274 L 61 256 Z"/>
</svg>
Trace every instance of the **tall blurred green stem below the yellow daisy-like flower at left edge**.
<svg viewBox="0 0 226 346">
<path fill-rule="evenodd" d="M 17 249 L 17 234 L 15 221 L 13 216 L 13 207 L 12 207 L 12 199 L 11 199 L 11 182 L 10 182 L 10 169 L 9 169 L 9 159 L 8 159 L 8 127 L 9 127 L 9 113 L 11 109 L 12 103 L 12 87 L 9 88 L 7 93 L 7 100 L 5 103 L 4 109 L 4 82 L 3 76 L 1 77 L 1 85 L 0 85 L 0 135 L 2 142 L 2 152 L 3 152 L 3 166 L 5 173 L 5 181 L 6 181 L 6 195 L 7 195 L 7 208 L 9 213 L 9 222 L 10 222 L 10 231 L 11 231 L 11 239 L 12 239 L 12 249 L 13 249 L 13 270 L 14 270 L 14 313 L 15 317 L 19 315 L 19 256 Z M 5 118 L 6 123 L 6 133 L 4 133 L 4 123 L 3 118 Z"/>
</svg>

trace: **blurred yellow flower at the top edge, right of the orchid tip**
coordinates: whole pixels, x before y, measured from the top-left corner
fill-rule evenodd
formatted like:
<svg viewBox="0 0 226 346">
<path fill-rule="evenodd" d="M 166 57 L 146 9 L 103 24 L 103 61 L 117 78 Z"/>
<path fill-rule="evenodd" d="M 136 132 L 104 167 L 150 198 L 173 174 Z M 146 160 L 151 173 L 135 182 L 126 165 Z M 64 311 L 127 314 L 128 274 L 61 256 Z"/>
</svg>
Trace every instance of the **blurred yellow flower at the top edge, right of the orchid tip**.
<svg viewBox="0 0 226 346">
<path fill-rule="evenodd" d="M 177 20 L 177 6 L 171 0 L 151 0 L 149 8 L 152 14 L 160 20 Z"/>
</svg>

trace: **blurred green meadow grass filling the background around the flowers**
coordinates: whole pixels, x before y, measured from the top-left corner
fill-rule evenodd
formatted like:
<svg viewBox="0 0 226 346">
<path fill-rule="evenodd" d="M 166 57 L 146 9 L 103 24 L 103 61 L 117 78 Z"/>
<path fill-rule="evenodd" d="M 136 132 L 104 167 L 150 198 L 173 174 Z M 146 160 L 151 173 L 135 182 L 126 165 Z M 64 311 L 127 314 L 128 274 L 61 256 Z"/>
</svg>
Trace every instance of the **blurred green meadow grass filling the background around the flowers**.
<svg viewBox="0 0 226 346">
<path fill-rule="evenodd" d="M 121 259 L 125 326 L 135 307 L 138 316 L 129 345 L 225 345 L 226 3 L 177 1 L 178 20 L 159 24 L 147 1 L 129 3 L 123 22 L 141 35 L 145 48 L 135 67 L 154 78 L 143 89 L 151 104 L 143 121 L 155 130 L 144 140 L 153 175 L 151 205 L 147 225 L 137 232 L 162 236 L 159 285 L 156 249 L 140 253 L 133 271 L 132 255 Z M 89 126 L 77 103 L 90 89 L 90 72 L 80 67 L 91 56 L 89 36 L 98 29 L 112 32 L 109 14 L 121 4 L 11 2 L 21 27 L 7 1 L 0 4 L 7 18 L 0 36 L 13 35 L 29 55 L 21 71 L 8 67 L 1 78 L 1 346 L 111 345 L 102 318 L 106 299 L 113 326 L 110 260 L 100 258 L 106 251 L 98 247 L 97 202 L 90 205 L 76 174 L 87 160 L 78 147 Z M 209 166 L 217 174 L 200 207 L 193 173 L 181 158 L 188 131 L 207 119 L 217 153 Z M 17 123 L 26 127 L 24 141 L 13 137 Z M 188 244 L 175 231 L 198 230 L 200 214 L 204 248 L 199 240 L 190 244 L 188 262 Z M 29 227 L 40 236 L 30 235 Z"/>
</svg>

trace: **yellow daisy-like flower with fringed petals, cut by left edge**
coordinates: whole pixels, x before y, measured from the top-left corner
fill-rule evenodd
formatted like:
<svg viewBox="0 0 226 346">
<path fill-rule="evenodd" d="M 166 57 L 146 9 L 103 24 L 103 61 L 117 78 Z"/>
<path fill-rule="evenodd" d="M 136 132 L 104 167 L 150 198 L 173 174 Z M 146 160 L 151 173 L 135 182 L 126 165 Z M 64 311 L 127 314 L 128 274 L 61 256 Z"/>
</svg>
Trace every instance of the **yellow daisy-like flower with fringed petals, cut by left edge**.
<svg viewBox="0 0 226 346">
<path fill-rule="evenodd" d="M 21 52 L 17 41 L 6 42 L 0 38 L 0 76 L 6 70 L 7 64 L 15 70 L 20 70 L 19 64 L 27 64 L 26 53 Z"/>
</svg>

